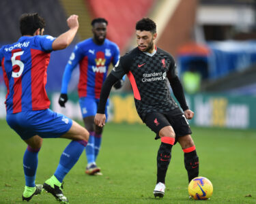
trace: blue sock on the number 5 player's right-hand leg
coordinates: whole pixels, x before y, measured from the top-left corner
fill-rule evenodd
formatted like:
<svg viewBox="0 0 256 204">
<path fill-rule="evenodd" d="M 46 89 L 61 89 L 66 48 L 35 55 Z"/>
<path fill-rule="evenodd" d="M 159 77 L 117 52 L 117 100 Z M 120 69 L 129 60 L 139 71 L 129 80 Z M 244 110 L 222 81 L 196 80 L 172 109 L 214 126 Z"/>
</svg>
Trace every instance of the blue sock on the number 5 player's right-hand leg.
<svg viewBox="0 0 256 204">
<path fill-rule="evenodd" d="M 68 144 L 66 149 L 61 154 L 59 165 L 54 173 L 59 182 L 62 183 L 66 174 L 70 171 L 70 169 L 72 169 L 72 167 L 74 167 L 86 145 L 86 141 L 71 141 Z"/>
</svg>

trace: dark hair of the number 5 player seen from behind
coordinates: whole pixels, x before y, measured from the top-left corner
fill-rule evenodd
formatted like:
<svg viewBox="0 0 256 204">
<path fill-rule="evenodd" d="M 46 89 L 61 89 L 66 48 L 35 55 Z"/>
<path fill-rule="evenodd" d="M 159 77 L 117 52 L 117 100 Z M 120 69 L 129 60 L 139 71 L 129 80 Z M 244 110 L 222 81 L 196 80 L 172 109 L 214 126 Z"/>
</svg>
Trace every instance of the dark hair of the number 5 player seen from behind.
<svg viewBox="0 0 256 204">
<path fill-rule="evenodd" d="M 21 35 L 33 35 L 37 29 L 44 29 L 44 18 L 38 13 L 22 14 L 20 16 L 20 33 Z"/>
</svg>

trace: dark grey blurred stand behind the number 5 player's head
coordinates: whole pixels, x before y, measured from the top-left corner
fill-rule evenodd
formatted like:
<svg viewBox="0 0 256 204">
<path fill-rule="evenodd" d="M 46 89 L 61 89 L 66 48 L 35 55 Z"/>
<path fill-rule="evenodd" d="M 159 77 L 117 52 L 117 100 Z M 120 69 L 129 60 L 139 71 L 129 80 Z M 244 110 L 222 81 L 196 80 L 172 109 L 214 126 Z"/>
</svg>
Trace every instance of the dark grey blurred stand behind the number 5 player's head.
<svg viewBox="0 0 256 204">
<path fill-rule="evenodd" d="M 13 43 L 20 38 L 19 18 L 24 13 L 38 12 L 46 20 L 45 32 L 58 36 L 68 29 L 66 12 L 59 1 L 53 0 L 1 0 L 0 1 L 0 43 Z M 65 22 L 65 23 L 64 23 Z"/>
</svg>

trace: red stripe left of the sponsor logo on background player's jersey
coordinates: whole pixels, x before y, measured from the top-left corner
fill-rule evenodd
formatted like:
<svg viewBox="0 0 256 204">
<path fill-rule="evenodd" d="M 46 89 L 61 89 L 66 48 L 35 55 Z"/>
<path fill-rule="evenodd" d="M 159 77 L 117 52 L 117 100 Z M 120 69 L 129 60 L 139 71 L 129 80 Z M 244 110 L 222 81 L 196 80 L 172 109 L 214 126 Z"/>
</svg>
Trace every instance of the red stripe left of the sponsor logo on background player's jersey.
<svg viewBox="0 0 256 204">
<path fill-rule="evenodd" d="M 87 78 L 88 78 L 88 56 L 85 56 L 79 63 L 79 98 L 87 96 Z"/>
</svg>

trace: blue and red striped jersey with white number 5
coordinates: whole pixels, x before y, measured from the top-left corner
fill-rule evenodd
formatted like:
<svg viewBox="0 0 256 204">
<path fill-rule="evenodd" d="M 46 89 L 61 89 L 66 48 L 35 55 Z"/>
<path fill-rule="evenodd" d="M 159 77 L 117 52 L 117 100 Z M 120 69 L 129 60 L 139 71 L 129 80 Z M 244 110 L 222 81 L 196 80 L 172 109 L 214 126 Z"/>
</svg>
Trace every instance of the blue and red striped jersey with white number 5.
<svg viewBox="0 0 256 204">
<path fill-rule="evenodd" d="M 7 114 L 50 106 L 45 85 L 54 39 L 49 35 L 23 36 L 16 43 L 1 48 Z"/>
</svg>

